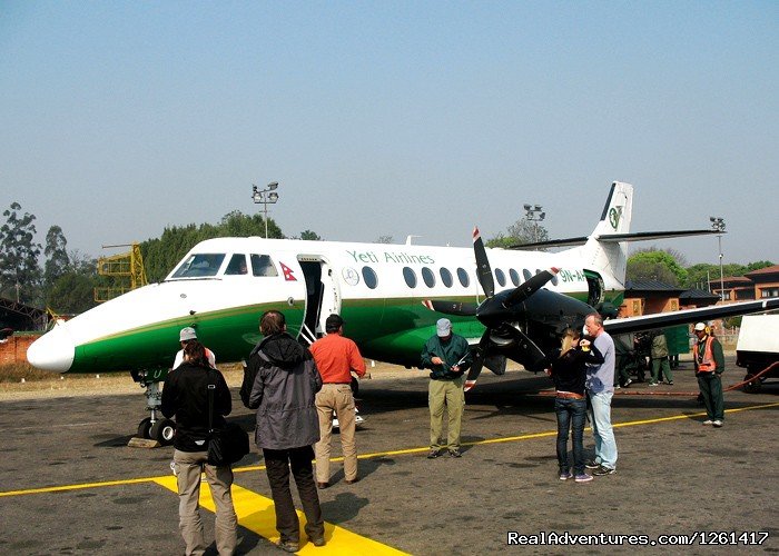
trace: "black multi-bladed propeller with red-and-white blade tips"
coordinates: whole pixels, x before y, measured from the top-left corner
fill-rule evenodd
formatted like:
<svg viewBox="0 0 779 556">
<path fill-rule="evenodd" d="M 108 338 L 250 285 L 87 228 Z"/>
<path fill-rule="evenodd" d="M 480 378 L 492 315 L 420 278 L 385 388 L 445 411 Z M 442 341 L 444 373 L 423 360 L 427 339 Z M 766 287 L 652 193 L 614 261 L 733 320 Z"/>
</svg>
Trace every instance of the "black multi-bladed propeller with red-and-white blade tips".
<svg viewBox="0 0 779 556">
<path fill-rule="evenodd" d="M 543 351 L 514 322 L 519 320 L 517 316 L 522 312 L 517 306 L 527 300 L 560 271 L 559 268 L 552 267 L 536 274 L 512 290 L 495 294 L 492 267 L 490 266 L 490 259 L 487 258 L 479 228 L 473 230 L 473 251 L 476 258 L 476 277 L 486 296 L 484 301 L 479 306 L 472 302 L 424 301 L 427 308 L 446 315 L 475 315 L 486 327 L 482 338 L 479 340 L 473 364 L 465 379 L 465 391 L 476 385 L 479 375 L 484 367 L 484 360 L 490 355 L 490 351 L 495 347 L 500 348 L 500 345 L 493 339 L 493 335 L 496 332 L 500 337 L 506 338 L 506 344 L 511 344 L 515 350 L 522 354 L 523 360 L 536 364 L 544 358 Z"/>
</svg>

